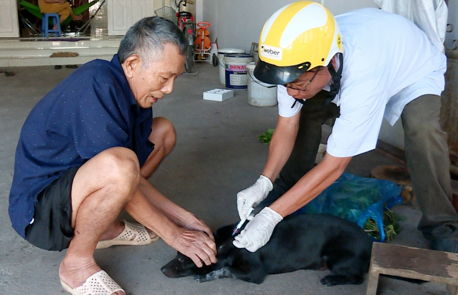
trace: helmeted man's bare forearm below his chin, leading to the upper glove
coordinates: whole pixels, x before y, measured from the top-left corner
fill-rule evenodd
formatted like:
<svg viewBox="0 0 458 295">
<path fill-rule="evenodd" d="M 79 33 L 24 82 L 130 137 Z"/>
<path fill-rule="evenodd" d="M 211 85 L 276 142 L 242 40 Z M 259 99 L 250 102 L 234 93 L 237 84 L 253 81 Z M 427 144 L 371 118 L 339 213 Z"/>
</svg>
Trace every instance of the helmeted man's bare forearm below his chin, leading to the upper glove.
<svg viewBox="0 0 458 295">
<path fill-rule="evenodd" d="M 296 115 L 299 116 L 300 114 Z M 269 156 L 262 175 L 274 181 L 293 151 L 299 129 L 299 117 L 278 117 L 278 123 L 269 146 Z"/>
</svg>

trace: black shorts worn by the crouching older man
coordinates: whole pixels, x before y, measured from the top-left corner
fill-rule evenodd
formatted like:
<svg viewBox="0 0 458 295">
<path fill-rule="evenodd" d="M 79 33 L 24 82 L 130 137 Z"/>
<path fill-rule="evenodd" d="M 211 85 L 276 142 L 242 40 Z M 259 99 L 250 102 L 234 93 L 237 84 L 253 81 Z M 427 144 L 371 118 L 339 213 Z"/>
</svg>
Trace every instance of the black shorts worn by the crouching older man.
<svg viewBox="0 0 458 295">
<path fill-rule="evenodd" d="M 70 245 L 73 238 L 72 183 L 79 167 L 69 169 L 38 194 L 34 222 L 25 228 L 25 239 L 32 245 L 58 251 Z"/>
</svg>

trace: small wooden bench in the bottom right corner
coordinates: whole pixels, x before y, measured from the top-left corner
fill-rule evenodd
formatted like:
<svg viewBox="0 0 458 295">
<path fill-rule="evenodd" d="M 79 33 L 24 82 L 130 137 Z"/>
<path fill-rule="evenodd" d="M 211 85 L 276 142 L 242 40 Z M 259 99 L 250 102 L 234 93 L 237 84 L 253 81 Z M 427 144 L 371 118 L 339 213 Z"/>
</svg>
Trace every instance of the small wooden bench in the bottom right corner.
<svg viewBox="0 0 458 295">
<path fill-rule="evenodd" d="M 367 295 L 376 295 L 379 275 L 434 281 L 458 295 L 458 254 L 375 242 L 370 258 Z"/>
</svg>

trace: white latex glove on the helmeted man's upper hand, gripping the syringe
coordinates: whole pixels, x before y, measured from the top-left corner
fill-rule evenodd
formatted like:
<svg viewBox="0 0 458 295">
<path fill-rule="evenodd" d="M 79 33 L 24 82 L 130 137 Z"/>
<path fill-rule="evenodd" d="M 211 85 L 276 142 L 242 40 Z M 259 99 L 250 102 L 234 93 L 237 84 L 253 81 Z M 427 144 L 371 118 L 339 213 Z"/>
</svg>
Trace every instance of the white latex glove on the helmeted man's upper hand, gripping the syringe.
<svg viewBox="0 0 458 295">
<path fill-rule="evenodd" d="M 246 213 L 253 206 L 258 205 L 272 191 L 272 181 L 261 175 L 253 185 L 237 193 L 237 211 L 241 221 L 245 221 Z"/>
</svg>

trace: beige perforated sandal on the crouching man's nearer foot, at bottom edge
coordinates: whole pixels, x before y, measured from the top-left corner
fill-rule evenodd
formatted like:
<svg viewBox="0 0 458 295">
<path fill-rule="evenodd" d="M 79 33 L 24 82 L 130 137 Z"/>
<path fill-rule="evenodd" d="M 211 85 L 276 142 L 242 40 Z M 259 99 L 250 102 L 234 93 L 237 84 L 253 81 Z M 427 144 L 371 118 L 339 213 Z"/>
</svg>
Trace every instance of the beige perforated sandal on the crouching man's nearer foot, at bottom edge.
<svg viewBox="0 0 458 295">
<path fill-rule="evenodd" d="M 71 288 L 61 280 L 62 287 L 72 295 L 111 295 L 118 291 L 126 291 L 118 285 L 105 271 L 98 271 L 90 276 L 82 285 Z"/>
</svg>

